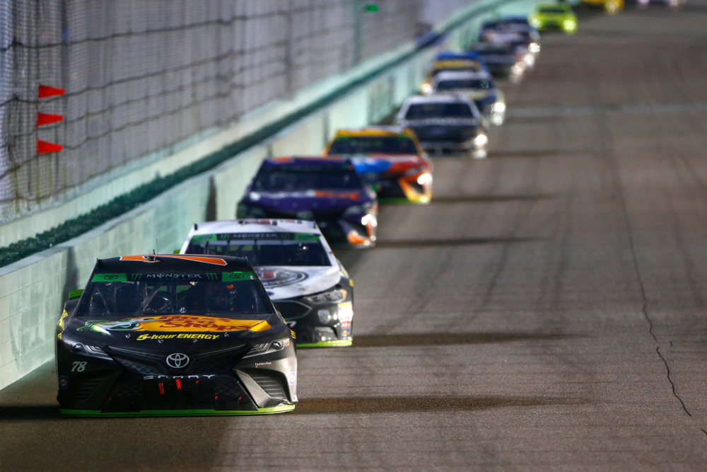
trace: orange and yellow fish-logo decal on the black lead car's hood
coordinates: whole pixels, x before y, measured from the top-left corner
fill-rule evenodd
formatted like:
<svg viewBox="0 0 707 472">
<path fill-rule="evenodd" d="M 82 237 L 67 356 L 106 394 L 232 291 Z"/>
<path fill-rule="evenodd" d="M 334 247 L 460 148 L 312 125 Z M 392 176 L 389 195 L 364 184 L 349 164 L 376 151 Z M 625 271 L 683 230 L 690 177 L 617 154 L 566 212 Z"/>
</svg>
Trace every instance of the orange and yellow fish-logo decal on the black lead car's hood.
<svg viewBox="0 0 707 472">
<path fill-rule="evenodd" d="M 93 330 L 110 334 L 110 331 L 156 331 L 156 332 L 230 332 L 264 331 L 271 326 L 267 321 L 234 320 L 215 316 L 163 315 L 148 318 L 125 318 L 118 321 L 86 321 L 79 331 Z"/>
</svg>

